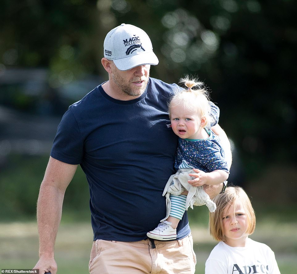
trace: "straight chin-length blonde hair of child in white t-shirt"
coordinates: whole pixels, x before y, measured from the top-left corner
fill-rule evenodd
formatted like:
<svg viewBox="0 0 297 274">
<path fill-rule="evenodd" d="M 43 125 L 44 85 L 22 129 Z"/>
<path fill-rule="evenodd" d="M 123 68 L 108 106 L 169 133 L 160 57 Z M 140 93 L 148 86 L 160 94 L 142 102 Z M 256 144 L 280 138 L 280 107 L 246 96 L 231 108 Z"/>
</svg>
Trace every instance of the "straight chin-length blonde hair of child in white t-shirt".
<svg viewBox="0 0 297 274">
<path fill-rule="evenodd" d="M 232 204 L 237 201 L 242 203 L 247 215 L 248 227 L 246 235 L 253 234 L 256 227 L 256 216 L 248 195 L 240 186 L 226 187 L 225 193 L 218 194 L 213 201 L 216 204 L 216 211 L 209 214 L 209 230 L 212 237 L 217 241 L 225 241 L 223 229 L 223 214 Z"/>
</svg>

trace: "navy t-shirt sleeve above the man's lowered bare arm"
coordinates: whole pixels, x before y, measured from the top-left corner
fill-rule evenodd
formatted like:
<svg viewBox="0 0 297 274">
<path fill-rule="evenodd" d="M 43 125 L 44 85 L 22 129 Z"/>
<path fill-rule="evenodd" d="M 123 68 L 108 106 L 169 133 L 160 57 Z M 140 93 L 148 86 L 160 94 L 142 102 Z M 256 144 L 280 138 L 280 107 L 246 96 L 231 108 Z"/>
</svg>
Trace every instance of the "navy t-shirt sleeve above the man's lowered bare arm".
<svg viewBox="0 0 297 274">
<path fill-rule="evenodd" d="M 50 155 L 72 165 L 78 165 L 83 156 L 83 137 L 77 121 L 69 108 L 58 125 Z"/>
</svg>

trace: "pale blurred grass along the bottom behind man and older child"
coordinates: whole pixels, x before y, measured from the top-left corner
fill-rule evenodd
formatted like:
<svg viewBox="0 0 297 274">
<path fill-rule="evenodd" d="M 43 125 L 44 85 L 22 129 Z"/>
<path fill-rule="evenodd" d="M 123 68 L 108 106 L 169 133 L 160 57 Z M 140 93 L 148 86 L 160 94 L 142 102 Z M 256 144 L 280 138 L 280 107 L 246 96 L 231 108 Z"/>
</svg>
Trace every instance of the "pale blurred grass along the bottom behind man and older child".
<svg viewBox="0 0 297 274">
<path fill-rule="evenodd" d="M 282 274 L 297 273 L 297 223 L 258 223 L 252 239 L 268 244 L 275 253 Z M 197 256 L 195 274 L 204 273 L 204 263 L 216 242 L 205 226 L 193 226 Z M 58 273 L 88 274 L 92 247 L 89 222 L 62 222 L 56 240 Z M 0 223 L 0 268 L 33 268 L 38 260 L 38 234 L 35 222 Z"/>
</svg>

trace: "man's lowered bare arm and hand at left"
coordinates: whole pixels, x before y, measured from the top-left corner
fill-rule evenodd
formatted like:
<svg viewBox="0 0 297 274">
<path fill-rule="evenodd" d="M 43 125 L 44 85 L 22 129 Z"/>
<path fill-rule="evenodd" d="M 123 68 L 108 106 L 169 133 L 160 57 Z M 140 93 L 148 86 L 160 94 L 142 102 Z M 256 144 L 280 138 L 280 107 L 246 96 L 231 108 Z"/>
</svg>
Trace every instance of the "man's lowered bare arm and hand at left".
<svg viewBox="0 0 297 274">
<path fill-rule="evenodd" d="M 34 268 L 56 274 L 54 245 L 61 221 L 62 205 L 67 186 L 72 180 L 77 165 L 70 165 L 49 158 L 37 202 L 37 224 L 39 233 L 39 261 Z"/>
</svg>

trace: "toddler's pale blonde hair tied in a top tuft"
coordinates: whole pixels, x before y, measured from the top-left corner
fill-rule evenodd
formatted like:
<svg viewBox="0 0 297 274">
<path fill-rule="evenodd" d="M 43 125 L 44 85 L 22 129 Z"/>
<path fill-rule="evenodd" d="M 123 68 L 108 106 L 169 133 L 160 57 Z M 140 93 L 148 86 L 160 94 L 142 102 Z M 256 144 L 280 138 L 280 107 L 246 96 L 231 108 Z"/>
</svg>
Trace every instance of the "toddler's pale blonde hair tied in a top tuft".
<svg viewBox="0 0 297 274">
<path fill-rule="evenodd" d="M 183 107 L 188 111 L 196 113 L 199 118 L 205 117 L 205 125 L 210 125 L 213 121 L 211 113 L 211 108 L 208 103 L 209 94 L 208 91 L 204 88 L 204 83 L 199 82 L 198 79 L 181 78 L 179 83 L 183 83 L 187 89 L 176 90 L 168 104 L 169 118 L 171 119 L 171 109 L 173 107 Z M 198 87 L 197 89 L 193 89 Z"/>
</svg>

